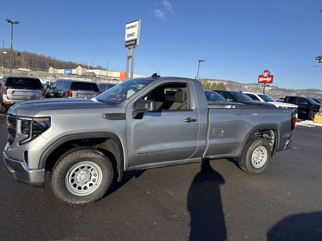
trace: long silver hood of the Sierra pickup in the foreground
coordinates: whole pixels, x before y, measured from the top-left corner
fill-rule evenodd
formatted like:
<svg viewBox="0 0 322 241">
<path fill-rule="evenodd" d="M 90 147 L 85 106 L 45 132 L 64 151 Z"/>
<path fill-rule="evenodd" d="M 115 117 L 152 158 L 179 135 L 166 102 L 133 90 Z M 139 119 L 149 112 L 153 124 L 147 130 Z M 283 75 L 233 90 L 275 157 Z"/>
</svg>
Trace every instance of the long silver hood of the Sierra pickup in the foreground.
<svg viewBox="0 0 322 241">
<path fill-rule="evenodd" d="M 71 109 L 89 109 L 104 108 L 107 105 L 103 102 L 92 101 L 83 98 L 54 98 L 29 100 L 19 102 L 13 105 L 9 110 L 9 114 L 29 116 L 31 114 L 50 114 L 56 111 L 64 111 Z"/>
</svg>

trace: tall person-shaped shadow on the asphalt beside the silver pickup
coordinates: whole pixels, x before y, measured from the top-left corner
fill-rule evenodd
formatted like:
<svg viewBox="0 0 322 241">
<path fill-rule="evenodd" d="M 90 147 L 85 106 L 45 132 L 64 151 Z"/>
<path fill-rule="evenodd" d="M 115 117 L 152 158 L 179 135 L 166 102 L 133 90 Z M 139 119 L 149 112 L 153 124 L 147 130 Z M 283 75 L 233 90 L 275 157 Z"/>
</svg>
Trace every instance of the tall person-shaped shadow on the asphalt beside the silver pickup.
<svg viewBox="0 0 322 241">
<path fill-rule="evenodd" d="M 226 240 L 226 225 L 222 210 L 220 185 L 223 177 L 202 161 L 201 170 L 188 192 L 190 240 Z"/>
</svg>

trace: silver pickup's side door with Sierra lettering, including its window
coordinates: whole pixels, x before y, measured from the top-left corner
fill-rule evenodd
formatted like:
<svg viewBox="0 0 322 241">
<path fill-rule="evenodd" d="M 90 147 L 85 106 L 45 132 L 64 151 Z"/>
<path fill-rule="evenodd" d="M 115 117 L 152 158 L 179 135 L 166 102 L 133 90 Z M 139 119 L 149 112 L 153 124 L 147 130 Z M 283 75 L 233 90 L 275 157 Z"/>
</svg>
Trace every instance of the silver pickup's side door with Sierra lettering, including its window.
<svg viewBox="0 0 322 241">
<path fill-rule="evenodd" d="M 129 102 L 126 133 L 130 167 L 189 162 L 187 159 L 197 150 L 199 132 L 199 111 L 193 90 L 189 80 L 162 81 Z M 133 118 L 133 104 L 142 98 L 154 100 L 157 110 L 145 112 L 142 118 Z"/>
</svg>

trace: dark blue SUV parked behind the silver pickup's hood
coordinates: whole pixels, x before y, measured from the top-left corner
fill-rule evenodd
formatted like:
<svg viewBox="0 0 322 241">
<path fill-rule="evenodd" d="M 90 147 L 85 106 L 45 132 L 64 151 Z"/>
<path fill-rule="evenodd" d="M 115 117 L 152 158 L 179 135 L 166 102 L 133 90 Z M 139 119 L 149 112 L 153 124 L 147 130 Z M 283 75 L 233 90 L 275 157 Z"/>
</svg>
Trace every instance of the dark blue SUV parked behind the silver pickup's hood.
<svg viewBox="0 0 322 241">
<path fill-rule="evenodd" d="M 93 98 L 100 94 L 96 83 L 72 79 L 58 79 L 51 89 L 54 98 Z"/>
</svg>

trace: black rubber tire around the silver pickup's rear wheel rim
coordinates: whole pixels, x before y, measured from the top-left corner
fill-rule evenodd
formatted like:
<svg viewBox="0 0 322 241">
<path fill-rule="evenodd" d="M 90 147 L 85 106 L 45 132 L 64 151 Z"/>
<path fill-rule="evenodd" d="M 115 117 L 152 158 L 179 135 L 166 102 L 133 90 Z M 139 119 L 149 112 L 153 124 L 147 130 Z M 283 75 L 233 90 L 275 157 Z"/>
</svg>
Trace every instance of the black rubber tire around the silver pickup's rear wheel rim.
<svg viewBox="0 0 322 241">
<path fill-rule="evenodd" d="M 254 164 L 252 161 L 252 156 L 255 150 L 259 147 L 264 147 L 266 149 L 266 160 L 262 163 L 259 160 L 258 164 Z M 264 148 L 260 148 L 264 149 Z M 264 153 L 264 152 L 263 152 Z M 263 172 L 271 159 L 271 147 L 270 144 L 263 137 L 251 137 L 245 146 L 243 154 L 239 160 L 239 166 L 241 170 L 248 172 L 250 174 L 259 174 Z M 254 166 L 258 165 L 258 167 Z M 262 165 L 262 166 L 261 166 Z"/>
</svg>

